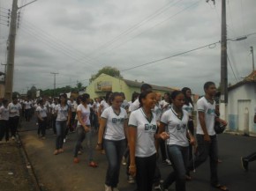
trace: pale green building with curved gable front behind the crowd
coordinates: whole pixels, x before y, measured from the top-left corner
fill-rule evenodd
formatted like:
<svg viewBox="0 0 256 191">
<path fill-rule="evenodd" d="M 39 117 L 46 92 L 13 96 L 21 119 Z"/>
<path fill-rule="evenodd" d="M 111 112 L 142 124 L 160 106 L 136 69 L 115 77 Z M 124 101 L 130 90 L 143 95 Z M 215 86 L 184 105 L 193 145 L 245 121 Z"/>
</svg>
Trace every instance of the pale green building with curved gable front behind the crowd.
<svg viewBox="0 0 256 191">
<path fill-rule="evenodd" d="M 147 82 L 137 82 L 117 77 L 111 77 L 107 74 L 101 74 L 87 86 L 86 92 L 90 94 L 92 99 L 105 97 L 106 92 L 124 92 L 126 100 L 132 99 L 133 92 L 140 92 L 141 84 Z M 173 92 L 175 89 L 151 84 L 154 92 Z"/>
</svg>

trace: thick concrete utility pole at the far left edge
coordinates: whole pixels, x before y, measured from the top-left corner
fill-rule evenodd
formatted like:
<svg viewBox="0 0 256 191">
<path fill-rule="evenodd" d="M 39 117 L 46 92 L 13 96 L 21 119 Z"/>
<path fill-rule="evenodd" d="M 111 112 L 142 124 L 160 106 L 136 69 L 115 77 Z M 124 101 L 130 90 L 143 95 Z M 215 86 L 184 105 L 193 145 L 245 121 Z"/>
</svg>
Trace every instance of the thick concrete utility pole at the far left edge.
<svg viewBox="0 0 256 191">
<path fill-rule="evenodd" d="M 32 4 L 36 0 L 28 3 Z M 27 4 L 18 7 L 18 0 L 12 0 L 12 10 L 11 10 L 11 24 L 10 32 L 8 37 L 8 55 L 7 55 L 7 71 L 5 73 L 5 93 L 4 98 L 11 100 L 12 98 L 12 88 L 13 88 L 13 70 L 14 70 L 14 55 L 15 55 L 15 38 L 16 38 L 16 20 L 17 11 Z"/>
</svg>

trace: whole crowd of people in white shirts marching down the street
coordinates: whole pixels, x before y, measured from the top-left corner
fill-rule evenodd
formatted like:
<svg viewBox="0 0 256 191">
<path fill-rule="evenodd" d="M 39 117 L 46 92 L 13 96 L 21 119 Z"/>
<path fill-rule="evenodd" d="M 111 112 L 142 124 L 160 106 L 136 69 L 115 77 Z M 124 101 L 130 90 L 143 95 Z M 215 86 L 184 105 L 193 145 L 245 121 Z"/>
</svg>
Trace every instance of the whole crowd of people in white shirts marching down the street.
<svg viewBox="0 0 256 191">
<path fill-rule="evenodd" d="M 132 101 L 123 92 L 107 92 L 103 99 L 91 99 L 85 93 L 74 100 L 61 94 L 55 99 L 13 98 L 1 100 L 0 141 L 14 140 L 20 116 L 30 121 L 37 119 L 39 138 L 45 139 L 46 129 L 56 134 L 53 154 L 64 152 L 69 131 L 76 132 L 73 162 L 79 163 L 82 142 L 86 140 L 88 165 L 97 167 L 94 160 L 93 132 L 98 133 L 97 151 L 105 153 L 108 169 L 105 191 L 118 191 L 120 166 L 127 164 L 130 183 L 136 182 L 137 191 L 168 190 L 175 182 L 177 191 L 186 190 L 185 182 L 192 180 L 190 171 L 210 159 L 210 183 L 220 190 L 228 190 L 218 180 L 218 148 L 215 122 L 227 125 L 218 117 L 215 105 L 215 83 L 204 84 L 205 95 L 197 100 L 197 123 L 194 126 L 193 102 L 190 88 L 153 92 L 150 84 L 142 84 L 140 92 L 132 94 Z M 159 152 L 158 152 L 159 151 Z M 163 181 L 157 166 L 159 153 L 162 163 L 173 170 Z M 245 159 L 245 158 L 243 158 Z"/>
</svg>

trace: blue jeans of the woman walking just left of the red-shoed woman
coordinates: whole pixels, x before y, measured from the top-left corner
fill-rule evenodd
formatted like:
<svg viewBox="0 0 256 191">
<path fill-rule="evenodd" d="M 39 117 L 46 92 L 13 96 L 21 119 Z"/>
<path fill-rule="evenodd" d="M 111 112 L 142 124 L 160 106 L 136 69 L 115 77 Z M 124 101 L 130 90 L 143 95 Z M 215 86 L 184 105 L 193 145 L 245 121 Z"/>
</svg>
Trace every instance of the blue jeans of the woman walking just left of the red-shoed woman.
<svg viewBox="0 0 256 191">
<path fill-rule="evenodd" d="M 56 121 L 56 150 L 63 148 L 66 127 L 67 121 Z"/>
</svg>

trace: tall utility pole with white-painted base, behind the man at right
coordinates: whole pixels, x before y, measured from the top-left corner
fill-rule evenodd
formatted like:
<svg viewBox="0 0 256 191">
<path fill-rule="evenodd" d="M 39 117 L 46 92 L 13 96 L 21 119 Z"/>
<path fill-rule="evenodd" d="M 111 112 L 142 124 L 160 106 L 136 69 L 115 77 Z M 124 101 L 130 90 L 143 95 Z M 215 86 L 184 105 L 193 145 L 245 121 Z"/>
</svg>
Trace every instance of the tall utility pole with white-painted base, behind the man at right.
<svg viewBox="0 0 256 191">
<path fill-rule="evenodd" d="M 221 118 L 227 120 L 228 105 L 228 60 L 227 60 L 227 22 L 226 22 L 226 0 L 222 0 L 222 40 L 221 40 Z"/>
</svg>

